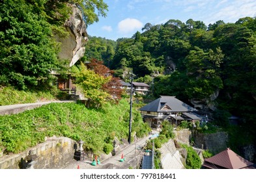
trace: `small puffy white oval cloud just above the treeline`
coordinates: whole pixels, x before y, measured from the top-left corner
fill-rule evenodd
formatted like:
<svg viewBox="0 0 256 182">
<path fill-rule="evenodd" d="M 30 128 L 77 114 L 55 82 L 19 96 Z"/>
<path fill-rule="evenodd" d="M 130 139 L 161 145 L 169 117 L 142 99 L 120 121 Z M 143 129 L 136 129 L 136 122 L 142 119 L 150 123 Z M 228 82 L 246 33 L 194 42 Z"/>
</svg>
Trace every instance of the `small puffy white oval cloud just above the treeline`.
<svg viewBox="0 0 256 182">
<path fill-rule="evenodd" d="M 118 29 L 121 33 L 134 32 L 143 27 L 143 23 L 137 19 L 126 18 L 118 23 Z"/>
</svg>

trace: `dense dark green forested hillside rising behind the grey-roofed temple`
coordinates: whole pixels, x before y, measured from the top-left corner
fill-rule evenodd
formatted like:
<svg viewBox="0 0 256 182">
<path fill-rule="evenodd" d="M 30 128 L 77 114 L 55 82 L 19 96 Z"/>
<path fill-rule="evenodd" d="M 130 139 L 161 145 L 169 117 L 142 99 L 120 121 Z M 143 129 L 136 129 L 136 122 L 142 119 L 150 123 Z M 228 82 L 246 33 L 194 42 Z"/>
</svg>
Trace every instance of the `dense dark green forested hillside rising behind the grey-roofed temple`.
<svg viewBox="0 0 256 182">
<path fill-rule="evenodd" d="M 238 116 L 239 131 L 253 136 L 244 140 L 255 144 L 255 17 L 240 18 L 235 23 L 219 20 L 208 26 L 193 19 L 169 19 L 160 25 L 146 23 L 142 32 L 119 38 L 116 44 L 98 39 L 88 42 L 87 60 L 91 55 L 105 55 L 106 47 L 113 45 L 113 59 L 99 59 L 115 70 L 116 76 L 129 81 L 128 72 L 132 71 L 135 81 L 151 86 L 155 98 L 176 96 L 208 114 L 220 127 L 229 127 L 228 118 Z M 92 50 L 97 52 L 92 54 Z M 240 150 L 236 147 L 235 151 Z"/>
</svg>

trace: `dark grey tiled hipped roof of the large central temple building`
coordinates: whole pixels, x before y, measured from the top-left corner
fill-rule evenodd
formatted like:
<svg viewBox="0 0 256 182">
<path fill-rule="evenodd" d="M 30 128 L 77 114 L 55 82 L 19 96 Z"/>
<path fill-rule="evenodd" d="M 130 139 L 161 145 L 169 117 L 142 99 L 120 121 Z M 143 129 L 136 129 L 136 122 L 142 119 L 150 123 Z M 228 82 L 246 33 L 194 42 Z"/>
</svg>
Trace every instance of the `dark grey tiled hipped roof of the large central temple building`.
<svg viewBox="0 0 256 182">
<path fill-rule="evenodd" d="M 167 107 L 166 107 L 167 106 Z M 169 107 L 169 109 L 167 109 Z M 162 110 L 163 109 L 163 110 Z M 175 96 L 161 96 L 149 104 L 141 107 L 140 110 L 150 112 L 193 112 L 197 111 L 193 107 L 175 98 Z"/>
</svg>

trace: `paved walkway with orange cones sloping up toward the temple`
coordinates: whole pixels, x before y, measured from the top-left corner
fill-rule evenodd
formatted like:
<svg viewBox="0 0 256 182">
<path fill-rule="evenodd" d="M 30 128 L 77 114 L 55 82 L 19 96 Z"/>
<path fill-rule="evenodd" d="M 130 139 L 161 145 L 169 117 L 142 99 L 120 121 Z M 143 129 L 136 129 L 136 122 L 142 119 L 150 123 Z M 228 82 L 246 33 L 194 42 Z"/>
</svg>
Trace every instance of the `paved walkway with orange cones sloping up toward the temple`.
<svg viewBox="0 0 256 182">
<path fill-rule="evenodd" d="M 141 161 L 143 150 L 142 148 L 145 146 L 147 140 L 149 140 L 157 131 L 152 131 L 152 134 L 149 136 L 142 138 L 141 140 L 135 142 L 134 144 L 128 145 L 126 148 L 122 149 L 120 153 L 106 159 L 104 161 L 100 161 L 100 164 L 96 166 L 92 166 L 92 161 L 70 161 L 69 164 L 65 167 L 65 169 L 77 169 L 78 166 L 80 169 L 128 169 L 129 167 L 137 166 L 136 164 Z M 120 159 L 124 156 L 124 161 L 121 162 Z"/>
</svg>

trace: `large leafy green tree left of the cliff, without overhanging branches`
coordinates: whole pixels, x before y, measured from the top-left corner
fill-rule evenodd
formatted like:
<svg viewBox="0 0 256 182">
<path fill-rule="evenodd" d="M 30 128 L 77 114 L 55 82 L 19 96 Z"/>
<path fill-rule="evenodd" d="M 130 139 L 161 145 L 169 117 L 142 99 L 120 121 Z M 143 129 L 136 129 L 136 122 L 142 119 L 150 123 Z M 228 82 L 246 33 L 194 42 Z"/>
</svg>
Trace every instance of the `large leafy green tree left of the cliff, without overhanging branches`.
<svg viewBox="0 0 256 182">
<path fill-rule="evenodd" d="M 57 44 L 42 11 L 27 1 L 4 1 L 0 5 L 0 84 L 26 89 L 48 83 L 57 70 Z"/>
</svg>

